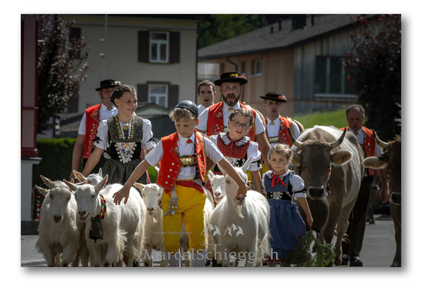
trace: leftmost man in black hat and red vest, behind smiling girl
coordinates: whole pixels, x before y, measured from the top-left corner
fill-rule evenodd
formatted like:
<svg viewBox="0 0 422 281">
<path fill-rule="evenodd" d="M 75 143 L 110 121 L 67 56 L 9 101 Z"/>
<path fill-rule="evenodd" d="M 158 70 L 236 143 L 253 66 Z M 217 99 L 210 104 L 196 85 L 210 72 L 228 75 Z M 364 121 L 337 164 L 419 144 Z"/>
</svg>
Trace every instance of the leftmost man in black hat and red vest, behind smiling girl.
<svg viewBox="0 0 422 281">
<path fill-rule="evenodd" d="M 72 170 L 78 171 L 82 156 L 83 166 L 87 163 L 89 155 L 94 149 L 94 138 L 96 138 L 98 124 L 101 120 L 108 119 L 117 114 L 117 107 L 113 105 L 110 100 L 111 93 L 116 86 L 120 86 L 120 81 L 107 79 L 100 82 L 100 86 L 95 89 L 101 99 L 101 103 L 88 107 L 85 110 L 81 123 L 79 124 L 79 131 L 75 147 L 72 154 Z M 98 169 L 103 166 L 106 159 L 101 157 L 98 164 L 92 170 L 92 173 L 98 173 Z M 70 179 L 75 178 L 75 175 L 70 172 Z"/>
</svg>

